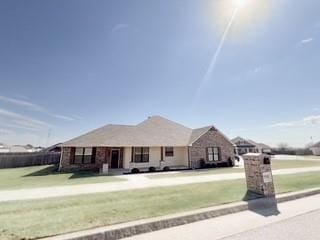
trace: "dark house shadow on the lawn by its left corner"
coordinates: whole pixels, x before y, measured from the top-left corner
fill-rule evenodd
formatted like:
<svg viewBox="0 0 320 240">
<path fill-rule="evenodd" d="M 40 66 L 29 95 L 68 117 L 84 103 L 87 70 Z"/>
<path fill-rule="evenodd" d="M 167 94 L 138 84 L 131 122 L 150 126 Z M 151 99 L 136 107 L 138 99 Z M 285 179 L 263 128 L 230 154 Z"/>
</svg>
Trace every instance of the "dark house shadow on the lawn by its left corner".
<svg viewBox="0 0 320 240">
<path fill-rule="evenodd" d="M 59 172 L 58 171 L 59 166 L 58 165 L 51 165 L 46 168 L 43 168 L 41 170 L 29 173 L 24 175 L 23 177 L 37 177 L 37 176 L 50 176 L 50 175 L 60 175 L 60 174 L 70 174 L 70 172 Z M 99 177 L 98 172 L 88 172 L 88 171 L 79 171 L 79 172 L 74 172 L 72 175 L 69 177 L 69 179 L 77 179 L 77 178 L 88 178 L 88 177 Z"/>
</svg>

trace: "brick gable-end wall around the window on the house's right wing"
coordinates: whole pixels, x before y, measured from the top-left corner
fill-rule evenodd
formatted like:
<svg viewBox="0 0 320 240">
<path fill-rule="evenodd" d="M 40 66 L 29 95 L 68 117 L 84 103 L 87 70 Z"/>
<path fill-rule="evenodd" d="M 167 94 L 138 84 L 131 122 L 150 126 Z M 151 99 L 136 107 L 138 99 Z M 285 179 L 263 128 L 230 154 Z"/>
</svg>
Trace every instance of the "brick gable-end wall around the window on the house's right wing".
<svg viewBox="0 0 320 240">
<path fill-rule="evenodd" d="M 208 162 L 208 147 L 219 147 L 219 162 L 228 162 L 229 159 L 234 161 L 235 146 L 225 136 L 212 128 L 189 147 L 189 160 L 191 166 L 199 167 L 201 160 Z"/>
</svg>

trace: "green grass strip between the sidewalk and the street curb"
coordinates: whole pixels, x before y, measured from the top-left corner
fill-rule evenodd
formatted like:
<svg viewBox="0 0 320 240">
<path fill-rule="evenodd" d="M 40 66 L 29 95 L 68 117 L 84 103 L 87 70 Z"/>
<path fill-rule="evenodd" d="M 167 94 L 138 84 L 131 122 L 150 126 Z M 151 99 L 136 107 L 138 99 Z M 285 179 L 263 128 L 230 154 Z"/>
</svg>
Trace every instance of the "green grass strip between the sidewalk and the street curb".
<svg viewBox="0 0 320 240">
<path fill-rule="evenodd" d="M 276 176 L 277 193 L 320 187 L 320 174 Z M 241 201 L 245 180 L 0 204 L 0 239 L 37 238 Z"/>
</svg>

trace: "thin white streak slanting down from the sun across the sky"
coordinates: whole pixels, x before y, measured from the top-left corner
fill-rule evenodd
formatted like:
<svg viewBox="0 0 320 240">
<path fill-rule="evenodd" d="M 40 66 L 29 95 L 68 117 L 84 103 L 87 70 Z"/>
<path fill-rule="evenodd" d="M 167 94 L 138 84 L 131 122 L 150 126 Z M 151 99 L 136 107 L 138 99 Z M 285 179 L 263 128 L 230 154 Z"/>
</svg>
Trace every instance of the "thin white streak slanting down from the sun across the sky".
<svg viewBox="0 0 320 240">
<path fill-rule="evenodd" d="M 233 13 L 232 13 L 232 15 L 231 15 L 230 21 L 229 21 L 226 29 L 223 32 L 223 35 L 221 37 L 221 40 L 220 40 L 219 45 L 217 47 L 217 50 L 214 53 L 214 55 L 213 55 L 213 57 L 211 59 L 210 65 L 209 65 L 209 67 L 208 67 L 208 69 L 206 71 L 206 74 L 204 75 L 204 77 L 203 77 L 203 79 L 202 79 L 202 81 L 200 83 L 200 86 L 199 86 L 199 88 L 198 88 L 198 90 L 196 92 L 196 95 L 195 95 L 195 98 L 194 98 L 194 101 L 193 101 L 193 105 L 195 105 L 196 102 L 198 101 L 199 95 L 202 92 L 203 87 L 205 87 L 206 83 L 210 79 L 210 76 L 211 76 L 211 74 L 212 74 L 212 72 L 213 72 L 213 70 L 214 70 L 214 68 L 216 66 L 216 63 L 217 63 L 218 57 L 220 55 L 221 49 L 223 47 L 223 44 L 224 44 L 224 42 L 226 40 L 226 37 L 227 37 L 227 35 L 228 35 L 229 31 L 230 31 L 230 28 L 231 28 L 231 26 L 233 24 L 234 19 L 237 16 L 238 11 L 239 11 L 239 8 L 235 8 Z"/>
</svg>

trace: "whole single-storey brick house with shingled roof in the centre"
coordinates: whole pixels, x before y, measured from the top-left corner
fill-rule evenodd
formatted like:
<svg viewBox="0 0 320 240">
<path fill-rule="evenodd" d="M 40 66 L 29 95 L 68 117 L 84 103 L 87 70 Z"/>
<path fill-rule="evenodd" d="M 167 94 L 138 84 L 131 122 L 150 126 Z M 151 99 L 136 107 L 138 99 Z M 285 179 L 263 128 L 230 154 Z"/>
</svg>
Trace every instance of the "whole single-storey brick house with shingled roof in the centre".
<svg viewBox="0 0 320 240">
<path fill-rule="evenodd" d="M 61 171 L 233 164 L 235 146 L 214 126 L 190 129 L 160 116 L 135 126 L 106 125 L 62 144 Z"/>
</svg>

